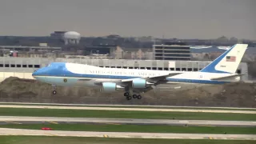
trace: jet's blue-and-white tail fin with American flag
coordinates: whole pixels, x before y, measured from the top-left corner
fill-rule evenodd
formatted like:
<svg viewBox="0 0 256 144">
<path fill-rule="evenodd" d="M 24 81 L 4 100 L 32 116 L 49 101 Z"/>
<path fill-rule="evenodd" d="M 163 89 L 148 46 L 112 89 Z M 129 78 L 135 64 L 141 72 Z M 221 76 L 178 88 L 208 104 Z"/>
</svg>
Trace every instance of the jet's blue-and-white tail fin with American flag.
<svg viewBox="0 0 256 144">
<path fill-rule="evenodd" d="M 200 70 L 200 72 L 234 74 L 242 61 L 247 46 L 247 44 L 236 44 L 232 46 L 230 50 L 226 50 L 226 52 L 216 58 L 208 66 Z"/>
</svg>

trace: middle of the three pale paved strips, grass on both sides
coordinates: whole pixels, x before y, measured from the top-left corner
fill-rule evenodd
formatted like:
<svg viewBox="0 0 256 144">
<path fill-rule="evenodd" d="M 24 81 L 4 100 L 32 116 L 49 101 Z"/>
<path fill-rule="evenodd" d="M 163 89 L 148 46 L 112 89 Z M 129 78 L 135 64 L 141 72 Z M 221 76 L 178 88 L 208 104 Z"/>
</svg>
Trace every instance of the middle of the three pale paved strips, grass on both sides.
<svg viewBox="0 0 256 144">
<path fill-rule="evenodd" d="M 256 127 L 254 121 L 210 121 L 210 120 L 166 120 L 166 119 L 131 119 L 131 118 L 57 118 L 57 117 L 16 117 L 0 116 L 0 124 L 6 123 L 105 123 L 105 124 L 134 124 L 134 125 L 169 125 L 169 126 L 248 126 Z"/>
</svg>

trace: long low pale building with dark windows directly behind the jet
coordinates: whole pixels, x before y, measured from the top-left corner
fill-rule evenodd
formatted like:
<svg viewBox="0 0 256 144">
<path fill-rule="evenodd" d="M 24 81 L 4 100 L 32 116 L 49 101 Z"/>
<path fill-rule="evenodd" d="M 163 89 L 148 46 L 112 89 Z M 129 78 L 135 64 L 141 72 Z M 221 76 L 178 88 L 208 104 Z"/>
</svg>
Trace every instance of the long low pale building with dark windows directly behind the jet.
<svg viewBox="0 0 256 144">
<path fill-rule="evenodd" d="M 86 59 L 86 58 L 0 58 L 0 72 L 33 73 L 50 62 L 74 62 L 100 67 L 120 69 L 177 70 L 198 71 L 209 61 L 168 61 L 168 60 L 127 60 L 127 59 Z M 247 64 L 241 62 L 237 73 L 245 74 L 242 80 L 248 80 Z M 0 77 L 3 78 L 2 75 Z"/>
</svg>

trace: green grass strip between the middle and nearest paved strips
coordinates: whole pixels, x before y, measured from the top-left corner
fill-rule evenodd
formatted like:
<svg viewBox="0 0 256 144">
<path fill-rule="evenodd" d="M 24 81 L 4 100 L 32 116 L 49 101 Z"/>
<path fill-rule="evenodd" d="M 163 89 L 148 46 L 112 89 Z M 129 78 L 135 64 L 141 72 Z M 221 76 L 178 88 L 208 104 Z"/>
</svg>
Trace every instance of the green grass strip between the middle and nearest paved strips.
<svg viewBox="0 0 256 144">
<path fill-rule="evenodd" d="M 214 126 L 156 126 L 156 125 L 115 125 L 115 124 L 7 124 L 3 128 L 41 130 L 104 131 L 104 132 L 146 132 L 180 134 L 256 134 L 255 127 L 214 127 Z"/>
</svg>

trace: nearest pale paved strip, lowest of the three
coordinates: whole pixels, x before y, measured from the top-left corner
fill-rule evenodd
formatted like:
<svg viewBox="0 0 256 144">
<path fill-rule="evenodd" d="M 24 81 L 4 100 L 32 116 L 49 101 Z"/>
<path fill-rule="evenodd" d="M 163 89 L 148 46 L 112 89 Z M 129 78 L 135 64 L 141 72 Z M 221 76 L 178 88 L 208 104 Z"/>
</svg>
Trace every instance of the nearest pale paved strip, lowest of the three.
<svg viewBox="0 0 256 144">
<path fill-rule="evenodd" d="M 127 132 L 61 131 L 61 130 L 21 130 L 0 128 L 0 135 L 33 135 L 62 137 L 99 137 L 99 138 L 168 138 L 168 139 L 233 139 L 256 140 L 254 134 L 159 134 Z"/>
</svg>

